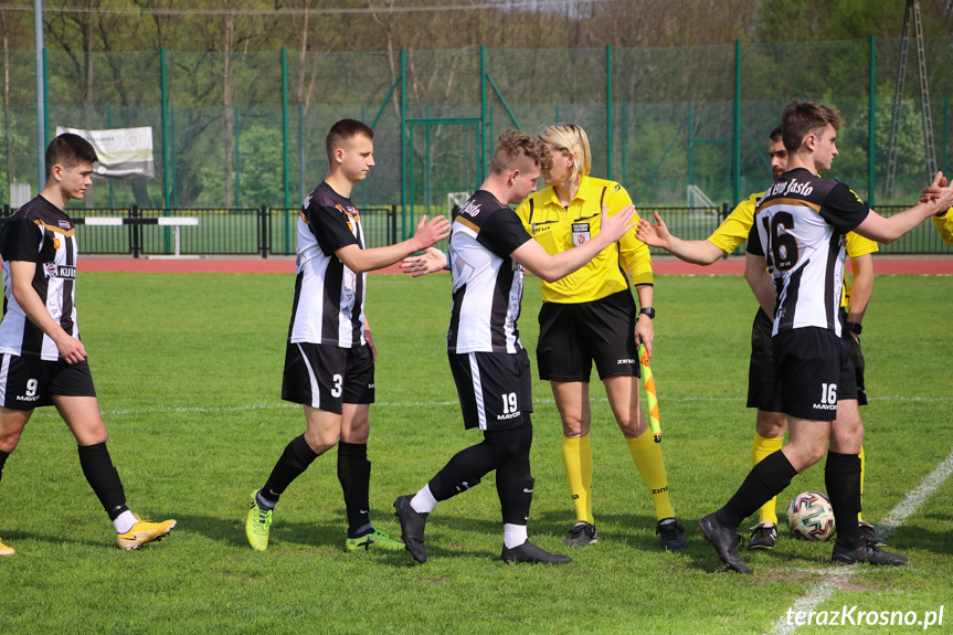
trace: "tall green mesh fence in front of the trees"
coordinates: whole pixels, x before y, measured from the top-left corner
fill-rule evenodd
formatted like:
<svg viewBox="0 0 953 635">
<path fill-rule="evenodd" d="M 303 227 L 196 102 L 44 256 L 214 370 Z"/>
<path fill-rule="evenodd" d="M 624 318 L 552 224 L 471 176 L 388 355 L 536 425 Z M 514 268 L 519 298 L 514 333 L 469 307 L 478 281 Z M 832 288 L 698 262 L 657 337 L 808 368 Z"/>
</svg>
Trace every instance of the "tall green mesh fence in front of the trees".
<svg viewBox="0 0 953 635">
<path fill-rule="evenodd" d="M 935 154 L 946 172 L 953 38 L 925 45 Z M 479 184 L 504 129 L 534 134 L 554 121 L 586 129 L 593 174 L 621 182 L 640 209 L 686 204 L 688 186 L 738 202 L 770 183 L 766 137 L 792 98 L 845 115 L 832 177 L 875 207 L 912 202 L 926 182 L 914 56 L 901 95 L 896 198 L 885 198 L 899 60 L 899 39 L 873 38 L 304 55 L 46 51 L 41 84 L 47 134 L 57 125 L 153 130 L 156 178 L 97 181 L 91 208 L 295 208 L 324 174 L 327 129 L 352 117 L 374 128 L 378 161 L 352 199 L 359 208 L 398 203 L 406 237 L 421 213 L 446 211 L 449 194 Z M 9 89 L 0 201 L 10 183 L 36 192 L 34 62 L 32 51 L 0 61 Z"/>
</svg>

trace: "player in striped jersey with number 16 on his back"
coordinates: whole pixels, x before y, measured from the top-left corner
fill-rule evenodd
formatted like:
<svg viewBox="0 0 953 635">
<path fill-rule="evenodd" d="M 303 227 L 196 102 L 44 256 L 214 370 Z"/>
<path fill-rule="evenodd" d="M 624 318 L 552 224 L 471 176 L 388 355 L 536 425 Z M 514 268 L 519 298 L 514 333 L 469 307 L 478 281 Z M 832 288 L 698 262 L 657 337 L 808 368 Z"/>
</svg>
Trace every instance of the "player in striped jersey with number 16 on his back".
<svg viewBox="0 0 953 635">
<path fill-rule="evenodd" d="M 832 560 L 841 564 L 903 564 L 861 532 L 860 457 L 864 426 L 857 412 L 854 364 L 838 318 L 845 234 L 890 243 L 953 202 L 953 188 L 885 219 L 836 179 L 822 179 L 837 156 L 837 110 L 815 102 L 784 108 L 782 130 L 787 170 L 758 205 L 745 266 L 769 267 L 776 289 L 772 343 L 781 410 L 787 415 L 787 445 L 749 473 L 738 491 L 699 528 L 729 569 L 749 572 L 738 552 L 738 527 L 791 479 L 827 451 L 825 484 L 834 508 L 837 540 Z M 835 421 L 835 419 L 837 421 Z M 829 448 L 828 448 L 829 443 Z"/>
</svg>

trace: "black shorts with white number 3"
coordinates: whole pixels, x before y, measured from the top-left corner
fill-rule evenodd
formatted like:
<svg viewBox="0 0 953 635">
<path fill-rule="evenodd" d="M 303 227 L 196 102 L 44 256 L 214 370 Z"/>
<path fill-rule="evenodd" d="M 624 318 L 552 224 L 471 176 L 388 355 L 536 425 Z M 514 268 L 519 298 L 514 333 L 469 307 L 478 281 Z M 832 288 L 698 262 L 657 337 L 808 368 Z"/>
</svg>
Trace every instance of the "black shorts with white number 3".
<svg viewBox="0 0 953 635">
<path fill-rule="evenodd" d="M 373 403 L 371 347 L 288 342 L 282 399 L 338 414 L 345 403 Z"/>
</svg>

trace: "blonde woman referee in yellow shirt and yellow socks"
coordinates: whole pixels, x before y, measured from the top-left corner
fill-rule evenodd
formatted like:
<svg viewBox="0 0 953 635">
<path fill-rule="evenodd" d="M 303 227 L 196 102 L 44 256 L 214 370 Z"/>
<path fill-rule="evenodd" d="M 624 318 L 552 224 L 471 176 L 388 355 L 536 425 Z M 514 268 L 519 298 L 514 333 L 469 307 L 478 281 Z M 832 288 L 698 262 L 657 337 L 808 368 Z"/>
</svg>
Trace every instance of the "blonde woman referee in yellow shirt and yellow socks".
<svg viewBox="0 0 953 635">
<path fill-rule="evenodd" d="M 614 181 L 589 176 L 591 154 L 585 131 L 574 124 L 550 126 L 540 134 L 552 154 L 548 186 L 518 209 L 523 225 L 549 254 L 592 240 L 600 231 L 605 205 L 614 214 L 632 204 Z M 626 269 L 632 272 L 636 309 Z M 686 546 L 685 530 L 675 517 L 661 449 L 639 408 L 638 345 L 652 354 L 655 310 L 652 260 L 634 232 L 603 250 L 578 272 L 553 283 L 542 282 L 537 361 L 540 379 L 548 380 L 562 419 L 562 458 L 575 506 L 576 522 L 565 544 L 585 547 L 599 541 L 592 515 L 593 459 L 590 448 L 589 382 L 592 363 L 615 420 L 655 504 L 656 533 L 661 546 L 678 551 Z"/>
</svg>

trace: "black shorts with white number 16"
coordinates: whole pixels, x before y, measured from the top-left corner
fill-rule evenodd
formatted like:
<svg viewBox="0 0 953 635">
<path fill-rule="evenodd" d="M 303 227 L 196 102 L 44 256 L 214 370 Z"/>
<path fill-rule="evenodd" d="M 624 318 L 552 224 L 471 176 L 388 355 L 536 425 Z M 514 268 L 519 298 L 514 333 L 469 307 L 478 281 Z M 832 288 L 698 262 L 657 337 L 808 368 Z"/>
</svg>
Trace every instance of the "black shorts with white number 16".
<svg viewBox="0 0 953 635">
<path fill-rule="evenodd" d="M 785 330 L 774 337 L 781 412 L 814 421 L 837 419 L 837 402 L 857 399 L 850 350 L 826 328 Z"/>
</svg>

